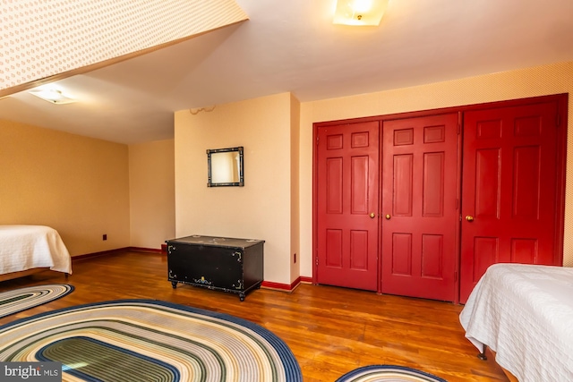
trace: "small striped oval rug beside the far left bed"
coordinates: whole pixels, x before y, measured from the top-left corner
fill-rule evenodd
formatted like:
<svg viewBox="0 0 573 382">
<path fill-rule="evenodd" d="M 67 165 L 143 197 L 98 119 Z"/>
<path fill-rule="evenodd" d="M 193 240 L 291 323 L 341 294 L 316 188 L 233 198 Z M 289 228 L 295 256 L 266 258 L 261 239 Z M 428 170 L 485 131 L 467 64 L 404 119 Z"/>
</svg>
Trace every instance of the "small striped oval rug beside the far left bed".
<svg viewBox="0 0 573 382">
<path fill-rule="evenodd" d="M 72 291 L 72 285 L 47 284 L 0 293 L 0 318 L 54 301 Z"/>
</svg>

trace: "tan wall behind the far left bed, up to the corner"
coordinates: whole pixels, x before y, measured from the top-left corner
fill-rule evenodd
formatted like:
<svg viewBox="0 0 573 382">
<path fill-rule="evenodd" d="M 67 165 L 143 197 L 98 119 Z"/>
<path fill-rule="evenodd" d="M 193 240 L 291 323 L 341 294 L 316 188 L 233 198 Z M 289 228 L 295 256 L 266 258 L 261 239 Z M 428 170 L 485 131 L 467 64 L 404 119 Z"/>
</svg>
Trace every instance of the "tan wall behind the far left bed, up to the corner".
<svg viewBox="0 0 573 382">
<path fill-rule="evenodd" d="M 129 246 L 127 156 L 122 144 L 0 121 L 0 224 L 50 225 L 72 256 Z"/>
</svg>

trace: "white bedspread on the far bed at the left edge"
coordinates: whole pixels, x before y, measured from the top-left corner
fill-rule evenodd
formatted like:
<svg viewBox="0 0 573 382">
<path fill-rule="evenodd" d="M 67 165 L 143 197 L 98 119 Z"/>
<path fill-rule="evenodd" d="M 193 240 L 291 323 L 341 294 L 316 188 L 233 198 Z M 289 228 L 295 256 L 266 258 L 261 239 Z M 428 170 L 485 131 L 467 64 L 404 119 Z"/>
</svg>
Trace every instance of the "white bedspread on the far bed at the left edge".
<svg viewBox="0 0 573 382">
<path fill-rule="evenodd" d="M 0 275 L 34 267 L 72 274 L 60 234 L 45 225 L 0 225 Z"/>
</svg>

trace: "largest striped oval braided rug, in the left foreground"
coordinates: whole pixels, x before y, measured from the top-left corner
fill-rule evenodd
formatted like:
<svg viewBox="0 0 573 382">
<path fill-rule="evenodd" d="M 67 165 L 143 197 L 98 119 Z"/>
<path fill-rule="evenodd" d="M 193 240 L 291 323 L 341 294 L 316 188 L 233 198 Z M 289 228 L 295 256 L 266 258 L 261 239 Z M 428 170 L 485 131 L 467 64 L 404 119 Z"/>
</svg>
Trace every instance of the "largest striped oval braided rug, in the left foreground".
<svg viewBox="0 0 573 382">
<path fill-rule="evenodd" d="M 165 301 L 121 300 L 0 327 L 0 361 L 58 361 L 64 380 L 301 381 L 288 346 L 242 318 Z"/>
</svg>

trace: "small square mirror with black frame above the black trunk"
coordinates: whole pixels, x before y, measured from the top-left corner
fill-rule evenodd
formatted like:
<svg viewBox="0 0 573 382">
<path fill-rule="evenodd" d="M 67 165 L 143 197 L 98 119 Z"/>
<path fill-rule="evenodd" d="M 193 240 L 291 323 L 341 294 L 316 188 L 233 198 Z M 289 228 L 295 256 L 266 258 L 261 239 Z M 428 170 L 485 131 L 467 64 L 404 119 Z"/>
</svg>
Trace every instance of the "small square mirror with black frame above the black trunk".
<svg viewBox="0 0 573 382">
<path fill-rule="evenodd" d="M 243 147 L 207 150 L 207 187 L 244 186 Z"/>
</svg>

